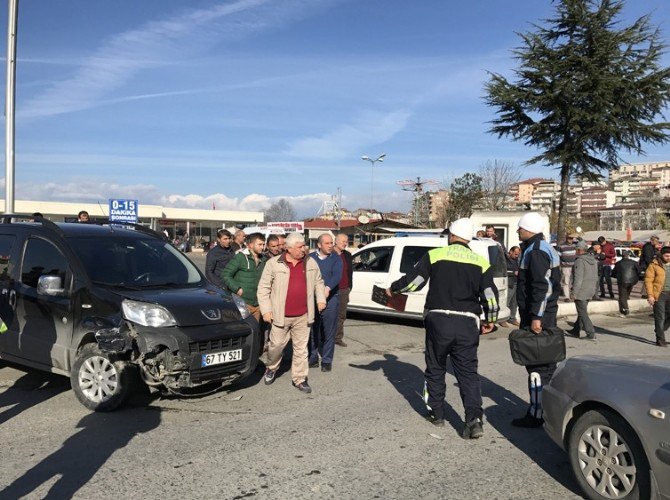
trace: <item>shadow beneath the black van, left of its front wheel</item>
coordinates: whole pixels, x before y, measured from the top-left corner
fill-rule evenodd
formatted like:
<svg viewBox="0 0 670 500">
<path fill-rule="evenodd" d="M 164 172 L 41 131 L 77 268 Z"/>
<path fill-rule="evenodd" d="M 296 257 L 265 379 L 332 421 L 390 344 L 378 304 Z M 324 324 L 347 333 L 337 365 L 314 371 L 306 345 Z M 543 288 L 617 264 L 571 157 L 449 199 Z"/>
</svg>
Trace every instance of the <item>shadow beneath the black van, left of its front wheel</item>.
<svg viewBox="0 0 670 500">
<path fill-rule="evenodd" d="M 66 377 L 41 371 L 29 371 L 0 394 L 0 425 L 44 401 L 70 390 Z"/>
</svg>

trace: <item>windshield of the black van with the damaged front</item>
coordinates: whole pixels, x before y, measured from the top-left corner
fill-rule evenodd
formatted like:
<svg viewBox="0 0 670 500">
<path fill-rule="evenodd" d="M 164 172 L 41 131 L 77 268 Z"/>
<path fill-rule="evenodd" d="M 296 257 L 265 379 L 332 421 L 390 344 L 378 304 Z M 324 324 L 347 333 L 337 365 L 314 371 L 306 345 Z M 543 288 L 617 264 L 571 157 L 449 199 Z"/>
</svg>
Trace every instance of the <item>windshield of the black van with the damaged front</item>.
<svg viewBox="0 0 670 500">
<path fill-rule="evenodd" d="M 91 281 L 127 288 L 200 283 L 201 274 L 179 250 L 151 238 L 69 238 Z"/>
</svg>

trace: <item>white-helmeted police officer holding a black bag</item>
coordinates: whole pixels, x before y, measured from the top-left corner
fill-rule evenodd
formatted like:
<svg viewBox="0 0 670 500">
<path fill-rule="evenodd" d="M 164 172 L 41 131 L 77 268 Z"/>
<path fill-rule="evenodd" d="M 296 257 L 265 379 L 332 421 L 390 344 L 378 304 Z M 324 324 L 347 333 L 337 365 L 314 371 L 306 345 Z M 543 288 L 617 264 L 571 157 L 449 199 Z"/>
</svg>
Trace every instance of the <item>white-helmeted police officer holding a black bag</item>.
<svg viewBox="0 0 670 500">
<path fill-rule="evenodd" d="M 519 240 L 522 241 L 519 281 L 516 285 L 521 328 L 528 328 L 535 334 L 541 333 L 543 328 L 556 326 L 561 281 L 560 258 L 544 239 L 543 227 L 542 216 L 537 212 L 528 212 L 519 219 L 517 230 Z M 556 363 L 526 366 L 530 406 L 526 415 L 512 420 L 512 425 L 542 426 L 544 420 L 539 398 L 541 385 L 549 383 L 555 370 Z"/>
</svg>

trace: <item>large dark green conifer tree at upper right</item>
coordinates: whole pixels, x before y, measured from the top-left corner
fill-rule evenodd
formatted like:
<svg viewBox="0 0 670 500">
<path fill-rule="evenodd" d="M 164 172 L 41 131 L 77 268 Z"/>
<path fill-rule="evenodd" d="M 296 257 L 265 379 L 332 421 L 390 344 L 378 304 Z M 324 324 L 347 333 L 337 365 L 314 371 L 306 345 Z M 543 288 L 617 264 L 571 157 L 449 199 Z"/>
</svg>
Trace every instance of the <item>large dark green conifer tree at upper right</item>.
<svg viewBox="0 0 670 500">
<path fill-rule="evenodd" d="M 649 16 L 621 26 L 622 8 L 623 0 L 560 0 L 555 17 L 520 34 L 516 82 L 491 73 L 486 85 L 497 110 L 489 132 L 539 149 L 527 164 L 560 171 L 559 238 L 571 177 L 600 178 L 621 152 L 669 140 L 670 123 L 656 121 L 670 102 L 670 68 L 659 66 L 666 46 Z"/>
</svg>

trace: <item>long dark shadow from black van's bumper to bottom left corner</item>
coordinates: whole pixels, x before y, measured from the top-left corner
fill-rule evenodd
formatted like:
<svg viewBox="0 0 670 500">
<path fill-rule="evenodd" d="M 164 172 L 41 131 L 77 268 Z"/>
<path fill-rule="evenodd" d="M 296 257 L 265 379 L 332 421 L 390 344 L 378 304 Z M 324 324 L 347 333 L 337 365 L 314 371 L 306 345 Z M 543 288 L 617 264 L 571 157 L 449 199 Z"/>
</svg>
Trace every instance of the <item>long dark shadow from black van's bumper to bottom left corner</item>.
<svg viewBox="0 0 670 500">
<path fill-rule="evenodd" d="M 44 498 L 71 498 L 116 450 L 126 446 L 136 435 L 155 429 L 160 418 L 156 408 L 86 415 L 77 424 L 81 430 L 0 491 L 0 498 L 32 496 L 33 491 L 54 477 L 59 479 Z"/>
</svg>

